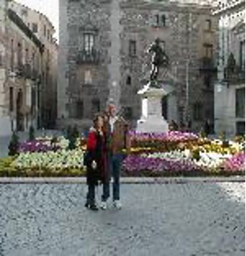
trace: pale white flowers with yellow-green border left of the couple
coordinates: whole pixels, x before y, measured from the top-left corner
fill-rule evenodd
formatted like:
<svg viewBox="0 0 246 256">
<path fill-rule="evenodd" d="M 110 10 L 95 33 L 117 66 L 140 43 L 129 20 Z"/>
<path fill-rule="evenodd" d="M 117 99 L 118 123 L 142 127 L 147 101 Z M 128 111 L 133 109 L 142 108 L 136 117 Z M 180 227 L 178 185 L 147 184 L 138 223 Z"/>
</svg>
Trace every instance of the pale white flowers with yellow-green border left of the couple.
<svg viewBox="0 0 246 256">
<path fill-rule="evenodd" d="M 21 153 L 0 161 L 0 176 L 83 176 L 84 152 L 59 150 Z"/>
</svg>

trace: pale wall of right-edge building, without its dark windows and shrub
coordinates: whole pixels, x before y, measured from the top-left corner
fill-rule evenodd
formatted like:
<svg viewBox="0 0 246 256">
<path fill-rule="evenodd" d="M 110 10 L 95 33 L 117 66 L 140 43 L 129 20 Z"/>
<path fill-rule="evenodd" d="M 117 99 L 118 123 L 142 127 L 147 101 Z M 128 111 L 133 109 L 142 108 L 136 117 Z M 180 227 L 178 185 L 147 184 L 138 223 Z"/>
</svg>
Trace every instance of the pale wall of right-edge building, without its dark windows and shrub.
<svg viewBox="0 0 246 256">
<path fill-rule="evenodd" d="M 234 55 L 237 67 L 240 65 L 240 42 L 245 41 L 245 1 L 223 1 L 215 8 L 218 26 L 218 81 L 215 83 L 215 132 L 237 134 L 237 122 L 245 122 L 245 117 L 237 118 L 235 111 L 236 90 L 245 88 L 245 63 L 240 79 L 228 80 L 225 68 L 230 53 Z M 245 107 L 245 102 L 242 102 Z M 243 106 L 242 106 L 243 107 Z"/>
</svg>

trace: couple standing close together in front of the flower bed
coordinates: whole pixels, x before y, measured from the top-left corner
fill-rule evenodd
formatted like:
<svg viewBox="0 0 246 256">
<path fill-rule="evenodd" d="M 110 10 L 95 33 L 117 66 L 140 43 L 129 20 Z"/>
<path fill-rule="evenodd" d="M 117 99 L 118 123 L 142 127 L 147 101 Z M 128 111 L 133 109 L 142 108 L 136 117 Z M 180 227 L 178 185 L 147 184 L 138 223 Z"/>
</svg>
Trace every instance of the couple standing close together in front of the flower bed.
<svg viewBox="0 0 246 256">
<path fill-rule="evenodd" d="M 113 178 L 113 206 L 120 209 L 119 177 L 124 154 L 129 151 L 129 125 L 122 118 L 116 116 L 116 107 L 109 102 L 107 110 L 97 114 L 93 119 L 87 138 L 87 153 L 85 165 L 87 167 L 87 198 L 85 206 L 91 210 L 98 210 L 95 203 L 95 187 L 102 183 L 102 198 L 100 208 L 107 209 L 110 180 Z"/>
</svg>

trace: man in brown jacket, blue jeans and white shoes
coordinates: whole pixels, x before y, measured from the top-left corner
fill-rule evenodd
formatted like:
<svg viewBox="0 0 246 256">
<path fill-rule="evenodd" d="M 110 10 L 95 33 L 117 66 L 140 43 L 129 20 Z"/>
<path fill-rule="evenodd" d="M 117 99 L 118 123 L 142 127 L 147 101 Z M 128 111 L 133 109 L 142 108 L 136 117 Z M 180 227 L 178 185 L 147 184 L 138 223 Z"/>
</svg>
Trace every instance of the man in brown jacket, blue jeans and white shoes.
<svg viewBox="0 0 246 256">
<path fill-rule="evenodd" d="M 129 151 L 129 125 L 122 117 L 117 117 L 116 107 L 114 102 L 111 101 L 107 105 L 107 166 L 109 175 L 103 183 L 102 203 L 101 208 L 107 209 L 107 199 L 109 198 L 109 183 L 111 177 L 113 178 L 113 206 L 117 209 L 122 208 L 119 200 L 119 177 L 122 160 L 125 151 Z"/>
</svg>

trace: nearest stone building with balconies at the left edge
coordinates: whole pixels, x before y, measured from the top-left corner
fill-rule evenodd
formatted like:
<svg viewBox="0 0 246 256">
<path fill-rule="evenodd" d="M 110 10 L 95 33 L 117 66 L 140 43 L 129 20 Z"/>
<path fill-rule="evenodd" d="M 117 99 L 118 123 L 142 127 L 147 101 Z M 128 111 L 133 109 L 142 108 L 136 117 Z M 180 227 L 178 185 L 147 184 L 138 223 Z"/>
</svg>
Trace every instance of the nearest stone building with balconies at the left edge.
<svg viewBox="0 0 246 256">
<path fill-rule="evenodd" d="M 36 127 L 43 45 L 7 1 L 2 11 L 0 133 L 6 135 Z"/>
</svg>

